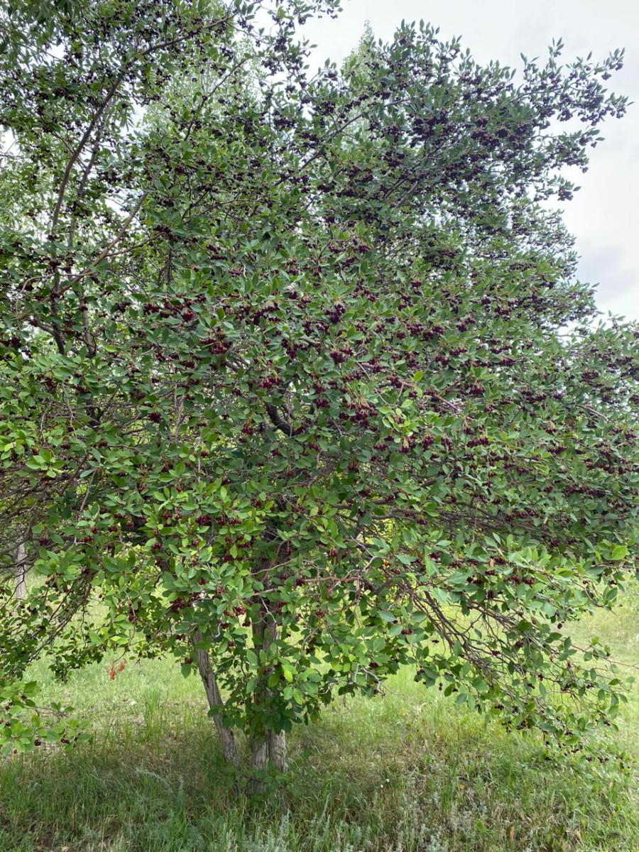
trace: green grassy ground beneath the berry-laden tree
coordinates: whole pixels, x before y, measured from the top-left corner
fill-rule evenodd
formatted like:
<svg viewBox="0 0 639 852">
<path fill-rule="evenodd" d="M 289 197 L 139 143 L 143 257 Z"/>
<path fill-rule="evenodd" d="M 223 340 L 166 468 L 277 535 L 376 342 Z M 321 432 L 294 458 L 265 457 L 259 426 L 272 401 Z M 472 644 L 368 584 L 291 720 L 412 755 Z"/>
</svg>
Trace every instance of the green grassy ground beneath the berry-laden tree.
<svg viewBox="0 0 639 852">
<path fill-rule="evenodd" d="M 582 625 L 639 663 L 636 607 Z M 614 739 L 630 771 L 584 776 L 458 710 L 410 673 L 291 736 L 291 778 L 238 799 L 199 682 L 104 665 L 51 685 L 95 721 L 89 746 L 0 764 L 0 852 L 639 852 L 639 689 Z"/>
</svg>

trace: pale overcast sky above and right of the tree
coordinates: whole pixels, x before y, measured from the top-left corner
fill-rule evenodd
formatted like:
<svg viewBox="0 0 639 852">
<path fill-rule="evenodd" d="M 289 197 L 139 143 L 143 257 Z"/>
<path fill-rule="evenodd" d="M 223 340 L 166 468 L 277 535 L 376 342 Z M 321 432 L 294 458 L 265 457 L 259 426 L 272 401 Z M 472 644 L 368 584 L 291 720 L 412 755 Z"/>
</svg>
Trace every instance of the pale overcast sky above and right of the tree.
<svg viewBox="0 0 639 852">
<path fill-rule="evenodd" d="M 400 21 L 426 20 L 440 37 L 461 36 L 481 63 L 521 67 L 520 54 L 545 58 L 561 37 L 563 60 L 593 52 L 603 59 L 625 48 L 625 66 L 608 81 L 619 95 L 636 101 L 625 118 L 602 126 L 605 141 L 590 149 L 590 170 L 565 207 L 577 238 L 579 278 L 598 284 L 597 303 L 639 320 L 639 3 L 632 0 L 343 0 L 337 20 L 314 20 L 305 33 L 317 45 L 312 65 L 339 63 L 360 40 L 366 21 L 376 37 L 389 40 Z M 570 176 L 572 179 L 573 176 Z"/>
</svg>

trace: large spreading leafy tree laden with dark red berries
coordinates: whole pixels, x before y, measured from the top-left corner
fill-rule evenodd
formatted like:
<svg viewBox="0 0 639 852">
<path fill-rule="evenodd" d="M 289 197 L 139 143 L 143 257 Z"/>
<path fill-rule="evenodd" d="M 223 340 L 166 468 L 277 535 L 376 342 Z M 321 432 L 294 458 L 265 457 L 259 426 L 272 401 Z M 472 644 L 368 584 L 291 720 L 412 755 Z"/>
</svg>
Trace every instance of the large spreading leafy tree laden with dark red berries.
<svg viewBox="0 0 639 852">
<path fill-rule="evenodd" d="M 401 665 L 568 746 L 623 695 L 562 627 L 631 561 L 637 331 L 543 204 L 621 55 L 515 83 L 402 24 L 310 78 L 332 7 L 3 6 L 9 747 L 32 659 L 113 648 L 198 670 L 254 769 Z"/>
</svg>

